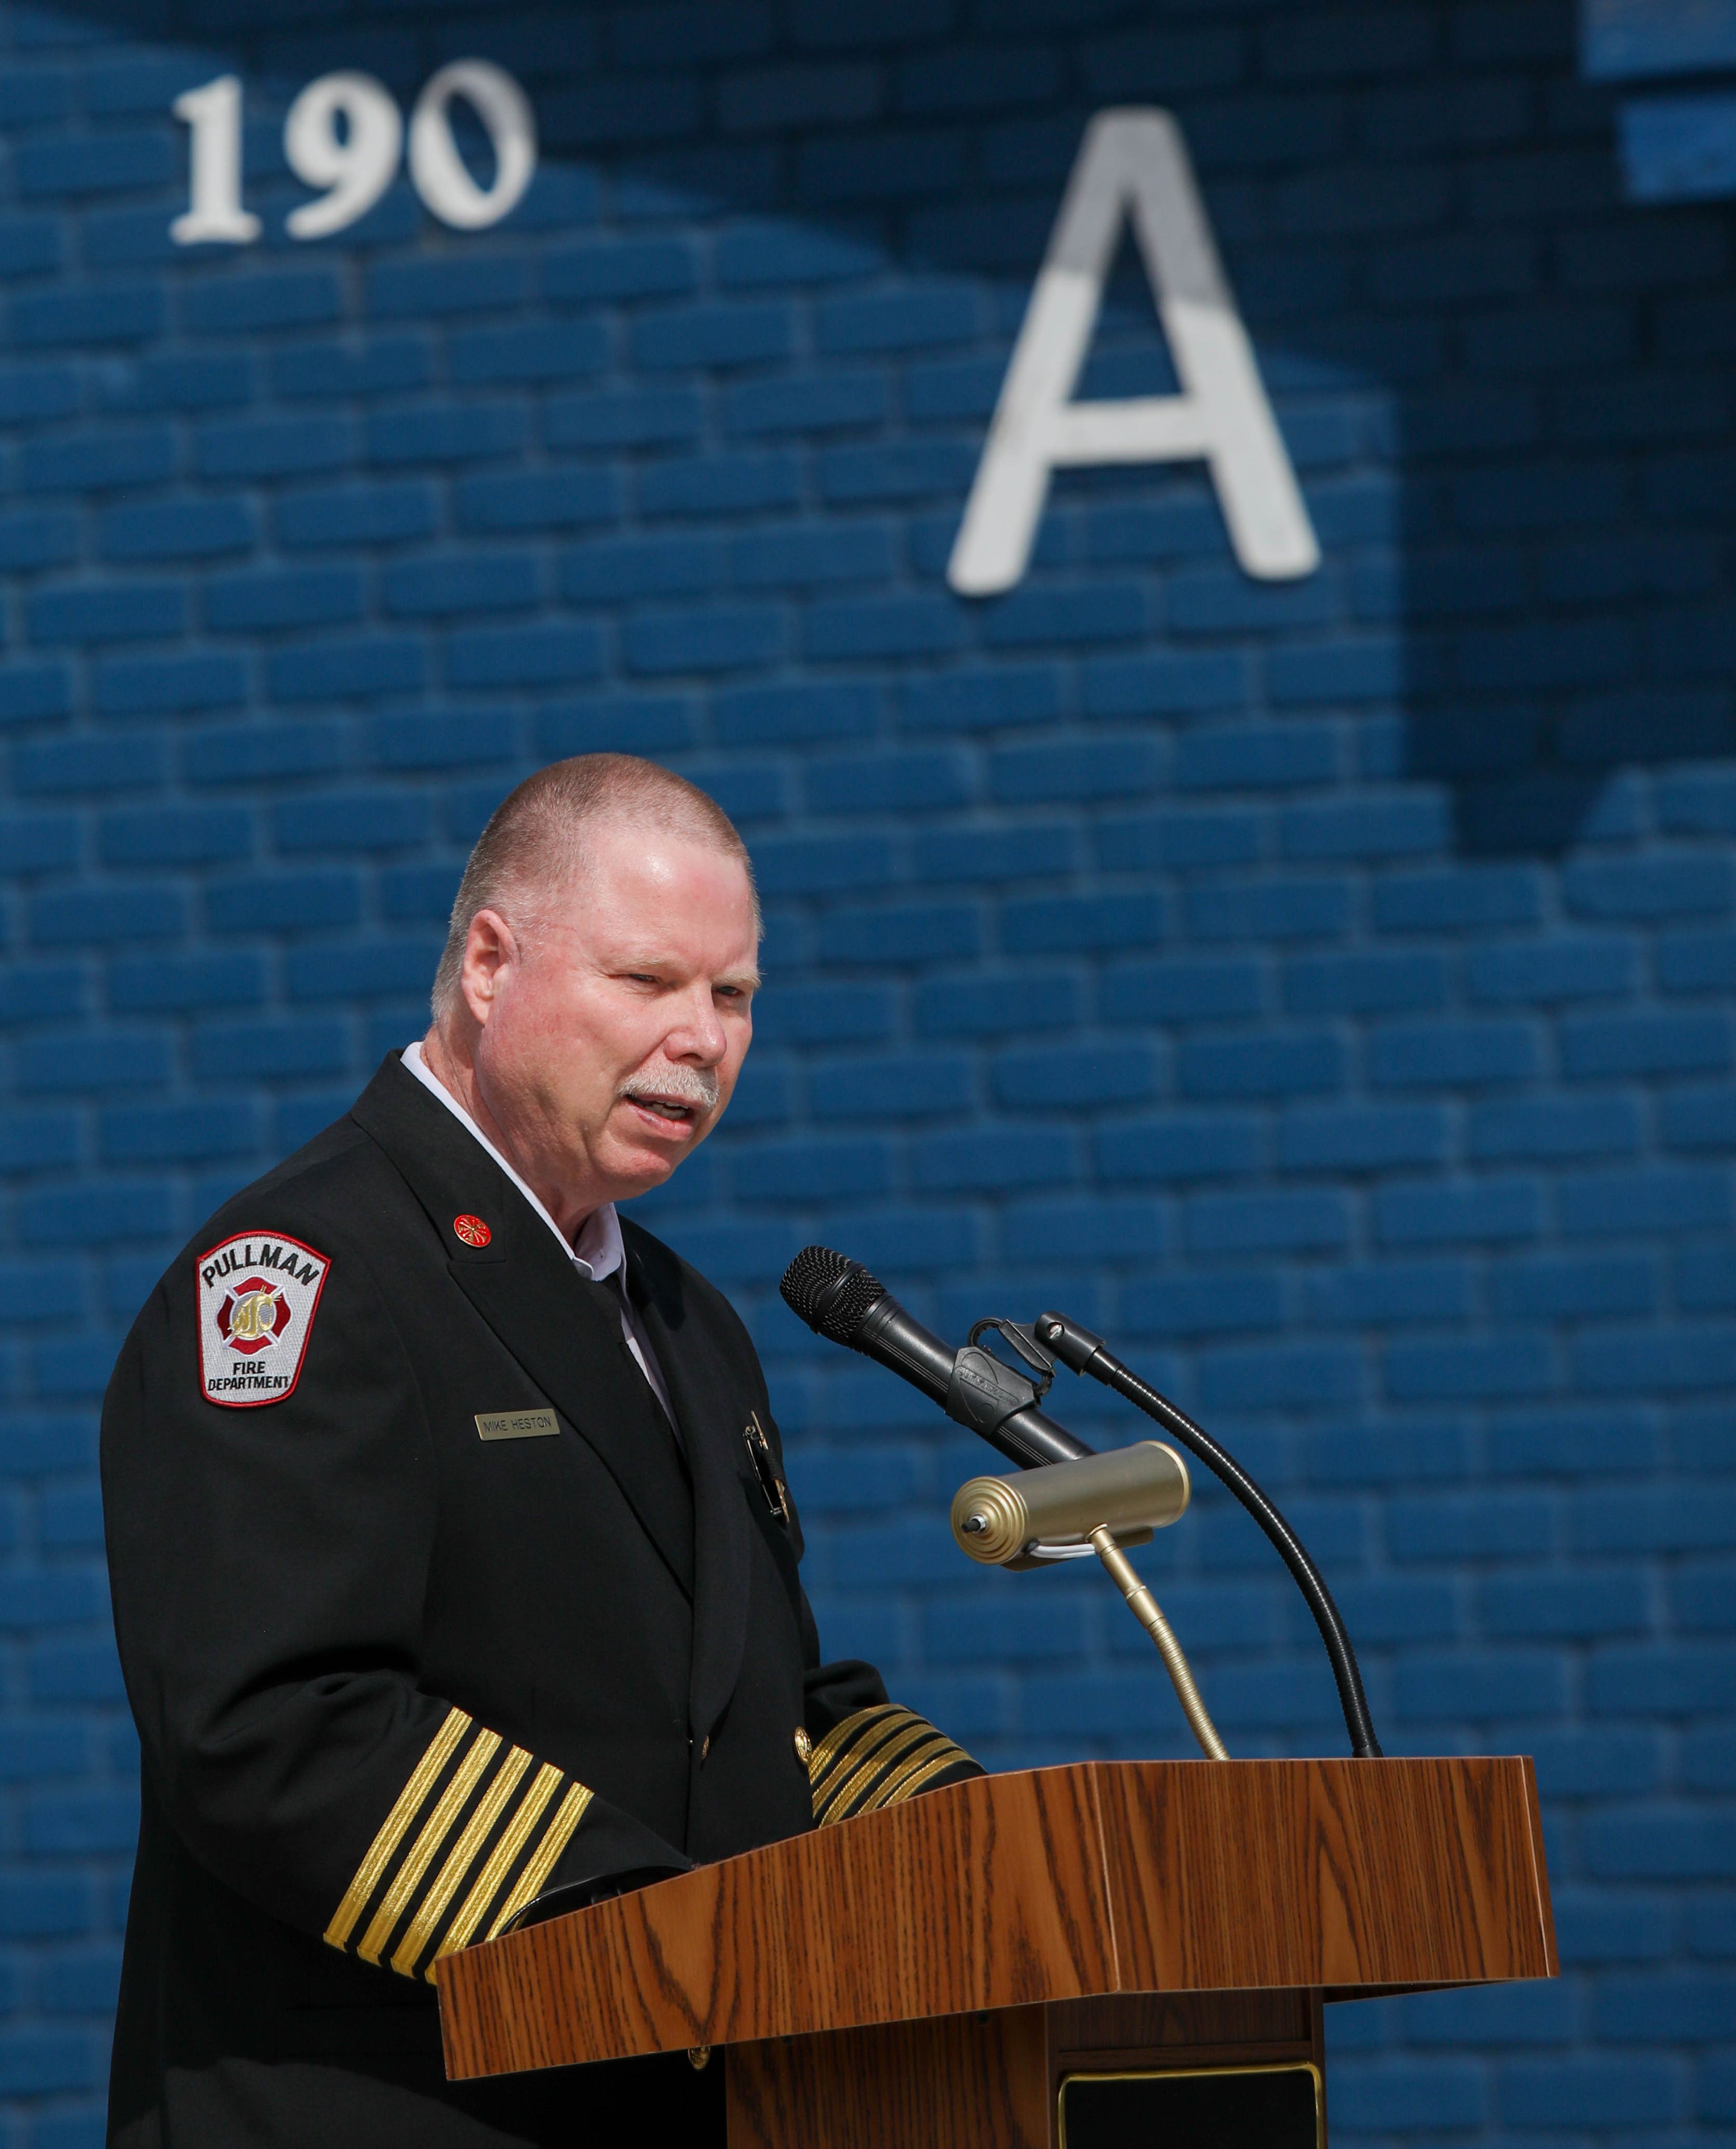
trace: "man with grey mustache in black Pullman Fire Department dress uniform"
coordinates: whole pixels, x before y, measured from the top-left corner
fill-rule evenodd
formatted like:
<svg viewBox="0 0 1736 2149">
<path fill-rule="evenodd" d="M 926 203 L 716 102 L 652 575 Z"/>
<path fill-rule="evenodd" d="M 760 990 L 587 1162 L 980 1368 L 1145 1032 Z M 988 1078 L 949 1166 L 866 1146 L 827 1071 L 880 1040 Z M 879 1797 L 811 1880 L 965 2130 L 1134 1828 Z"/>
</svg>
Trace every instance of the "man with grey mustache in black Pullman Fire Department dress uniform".
<svg viewBox="0 0 1736 2149">
<path fill-rule="evenodd" d="M 144 1745 L 112 2143 L 720 2143 L 685 2057 L 447 2085 L 434 1964 L 978 1773 L 821 1663 L 752 1343 L 614 1212 L 722 1117 L 756 946 L 711 799 L 544 769 L 428 1038 L 140 1315 L 103 1410 Z"/>
</svg>

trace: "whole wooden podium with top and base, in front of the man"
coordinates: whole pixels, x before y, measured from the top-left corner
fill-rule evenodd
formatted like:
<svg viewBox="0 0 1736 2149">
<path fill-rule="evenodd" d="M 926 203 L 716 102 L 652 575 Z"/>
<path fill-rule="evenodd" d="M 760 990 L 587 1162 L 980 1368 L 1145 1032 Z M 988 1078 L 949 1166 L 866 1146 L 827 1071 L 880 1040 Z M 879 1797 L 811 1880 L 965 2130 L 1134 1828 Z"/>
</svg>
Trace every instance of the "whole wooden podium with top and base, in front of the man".
<svg viewBox="0 0 1736 2149">
<path fill-rule="evenodd" d="M 730 2149 L 1323 2149 L 1321 2001 L 1553 1975 L 1530 1760 L 1081 1762 L 464 1949 L 440 2022 L 709 2050 Z"/>
</svg>

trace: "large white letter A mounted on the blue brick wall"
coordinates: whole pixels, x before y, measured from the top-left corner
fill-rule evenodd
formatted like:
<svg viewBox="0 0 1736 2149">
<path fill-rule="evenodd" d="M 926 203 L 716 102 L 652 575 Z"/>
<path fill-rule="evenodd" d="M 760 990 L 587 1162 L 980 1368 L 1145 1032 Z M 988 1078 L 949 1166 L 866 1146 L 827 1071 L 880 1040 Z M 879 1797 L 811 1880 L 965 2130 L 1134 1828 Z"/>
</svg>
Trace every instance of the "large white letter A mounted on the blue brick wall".
<svg viewBox="0 0 1736 2149">
<path fill-rule="evenodd" d="M 1128 208 L 1182 393 L 1070 402 Z M 1265 582 L 1313 574 L 1315 531 L 1182 131 L 1167 112 L 1100 112 L 1085 129 L 1018 331 L 947 582 L 967 597 L 1012 589 L 1031 557 L 1053 468 L 1195 458 L 1212 471 L 1248 574 Z"/>
</svg>

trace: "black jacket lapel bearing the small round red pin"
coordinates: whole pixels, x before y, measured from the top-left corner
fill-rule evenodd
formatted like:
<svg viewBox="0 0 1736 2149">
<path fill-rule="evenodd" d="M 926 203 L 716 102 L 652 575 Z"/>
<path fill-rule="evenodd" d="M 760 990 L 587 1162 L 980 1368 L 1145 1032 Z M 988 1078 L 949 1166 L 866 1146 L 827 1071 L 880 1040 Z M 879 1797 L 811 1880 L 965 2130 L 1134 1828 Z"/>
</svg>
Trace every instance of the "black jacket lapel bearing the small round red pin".
<svg viewBox="0 0 1736 2149">
<path fill-rule="evenodd" d="M 352 1117 L 380 1143 L 428 1210 L 458 1287 L 602 1457 L 683 1592 L 696 1597 L 681 1468 L 668 1436 L 647 1425 L 655 1405 L 642 1373 L 621 1347 L 619 1332 L 610 1332 L 606 1315 L 580 1289 L 554 1234 L 488 1150 L 395 1053 L 357 1098 Z M 481 1218 L 488 1244 L 466 1244 L 453 1229 L 458 1216 Z M 694 1481 L 698 1494 L 698 1472 Z M 703 1513 L 696 1517 L 700 1541 Z"/>
</svg>

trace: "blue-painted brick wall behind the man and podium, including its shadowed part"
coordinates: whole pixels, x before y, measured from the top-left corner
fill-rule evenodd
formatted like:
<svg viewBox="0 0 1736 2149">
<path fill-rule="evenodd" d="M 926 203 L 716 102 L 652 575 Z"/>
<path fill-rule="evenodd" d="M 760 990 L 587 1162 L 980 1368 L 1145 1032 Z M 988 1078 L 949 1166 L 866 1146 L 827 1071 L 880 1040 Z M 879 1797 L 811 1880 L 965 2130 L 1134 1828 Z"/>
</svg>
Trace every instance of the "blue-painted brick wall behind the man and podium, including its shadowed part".
<svg viewBox="0 0 1736 2149">
<path fill-rule="evenodd" d="M 1068 1307 L 1293 1513 L 1388 1749 L 1538 1758 L 1564 1979 L 1339 2009 L 1334 2132 L 1727 2134 L 1732 211 L 1624 200 L 1571 0 L 245 13 L 0 9 L 0 2143 L 99 2138 L 116 1341 L 591 748 L 758 860 L 758 1044 L 645 1212 L 761 1341 L 829 1646 L 993 1764 L 1186 1751 L 1113 1595 L 971 1571 L 982 1448 L 776 1279 L 825 1238 L 954 1337 Z M 294 88 L 458 54 L 533 97 L 522 206 L 290 243 Z M 221 69 L 264 239 L 178 254 Z M 1083 122 L 1152 101 L 1323 565 L 1253 585 L 1199 471 L 1085 471 L 956 600 Z M 1167 378 L 1124 271 L 1087 389 Z M 1341 1749 L 1240 1511 L 1149 1571 L 1238 1754 Z"/>
</svg>

